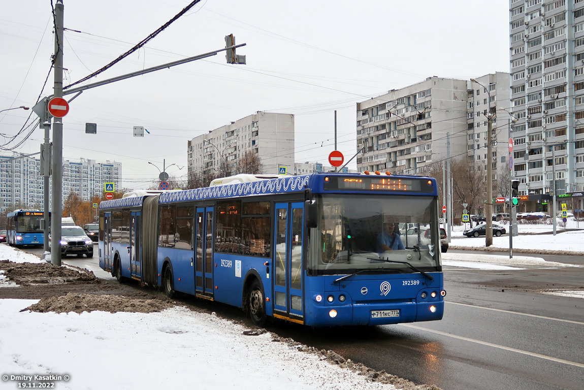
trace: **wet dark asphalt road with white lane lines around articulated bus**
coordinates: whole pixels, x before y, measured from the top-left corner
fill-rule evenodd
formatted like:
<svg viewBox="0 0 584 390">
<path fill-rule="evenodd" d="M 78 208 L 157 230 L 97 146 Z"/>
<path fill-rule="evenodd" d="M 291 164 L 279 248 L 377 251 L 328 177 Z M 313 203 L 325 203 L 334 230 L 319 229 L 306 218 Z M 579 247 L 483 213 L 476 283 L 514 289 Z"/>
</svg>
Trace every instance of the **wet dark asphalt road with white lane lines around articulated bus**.
<svg viewBox="0 0 584 390">
<path fill-rule="evenodd" d="M 581 257 L 533 256 L 583 264 Z M 97 257 L 65 262 L 99 270 Z M 277 321 L 269 330 L 444 390 L 584 389 L 584 300 L 540 292 L 584 289 L 584 268 L 445 267 L 444 282 L 448 295 L 442 321 L 340 329 Z M 239 315 L 229 308 L 220 311 Z"/>
</svg>

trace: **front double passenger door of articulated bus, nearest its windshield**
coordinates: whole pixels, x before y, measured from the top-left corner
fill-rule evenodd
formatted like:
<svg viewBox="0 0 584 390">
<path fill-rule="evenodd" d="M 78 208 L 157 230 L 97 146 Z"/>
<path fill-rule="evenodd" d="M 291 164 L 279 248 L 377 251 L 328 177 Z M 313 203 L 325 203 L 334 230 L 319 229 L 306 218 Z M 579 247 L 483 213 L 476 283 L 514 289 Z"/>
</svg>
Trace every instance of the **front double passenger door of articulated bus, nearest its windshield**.
<svg viewBox="0 0 584 390">
<path fill-rule="evenodd" d="M 276 203 L 274 238 L 274 309 L 303 316 L 304 204 Z"/>
</svg>

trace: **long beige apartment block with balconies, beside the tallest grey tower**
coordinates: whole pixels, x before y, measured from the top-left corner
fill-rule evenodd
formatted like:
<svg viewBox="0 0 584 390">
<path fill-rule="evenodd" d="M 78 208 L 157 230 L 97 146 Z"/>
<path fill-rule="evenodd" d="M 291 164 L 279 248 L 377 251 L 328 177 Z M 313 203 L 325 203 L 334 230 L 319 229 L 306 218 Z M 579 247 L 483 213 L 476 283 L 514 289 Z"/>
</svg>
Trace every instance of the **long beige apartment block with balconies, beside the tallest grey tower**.
<svg viewBox="0 0 584 390">
<path fill-rule="evenodd" d="M 486 169 L 486 116 L 503 101 L 509 105 L 509 74 L 496 72 L 477 78 L 477 83 L 429 77 L 425 81 L 357 103 L 357 170 L 418 175 L 429 172 L 433 163 L 447 158 L 467 158 L 477 169 Z M 495 123 L 505 123 L 505 111 L 496 111 Z M 503 141 L 493 125 L 493 140 Z M 493 148 L 493 167 L 498 169 L 499 144 Z M 507 152 L 508 154 L 508 152 Z M 493 159 L 494 158 L 494 159 Z M 506 161 L 506 160 L 504 160 Z M 493 171 L 493 172 L 496 172 Z"/>
</svg>

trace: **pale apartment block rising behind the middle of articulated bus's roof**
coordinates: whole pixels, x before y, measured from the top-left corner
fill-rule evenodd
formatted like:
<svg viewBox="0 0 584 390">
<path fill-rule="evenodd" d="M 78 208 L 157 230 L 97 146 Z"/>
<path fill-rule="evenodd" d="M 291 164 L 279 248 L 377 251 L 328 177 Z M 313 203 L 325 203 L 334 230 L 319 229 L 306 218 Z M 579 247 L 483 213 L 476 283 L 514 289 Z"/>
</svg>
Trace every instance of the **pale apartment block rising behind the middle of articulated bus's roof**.
<svg viewBox="0 0 584 390">
<path fill-rule="evenodd" d="M 228 165 L 237 171 L 238 163 L 246 154 L 258 156 L 263 173 L 277 175 L 279 166 L 294 169 L 294 115 L 255 114 L 199 135 L 188 141 L 189 173 L 218 175 Z"/>
</svg>

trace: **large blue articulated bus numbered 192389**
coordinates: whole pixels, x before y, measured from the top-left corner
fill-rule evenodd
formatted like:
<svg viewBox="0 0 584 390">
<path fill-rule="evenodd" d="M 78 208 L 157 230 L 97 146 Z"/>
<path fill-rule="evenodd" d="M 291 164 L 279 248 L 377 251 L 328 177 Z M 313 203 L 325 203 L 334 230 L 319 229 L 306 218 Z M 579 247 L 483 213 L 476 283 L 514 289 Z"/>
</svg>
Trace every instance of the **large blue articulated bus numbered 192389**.
<svg viewBox="0 0 584 390">
<path fill-rule="evenodd" d="M 442 319 L 436 180 L 230 179 L 100 203 L 100 267 L 169 297 L 180 291 L 240 307 L 256 325 L 270 317 L 309 326 Z"/>
</svg>

